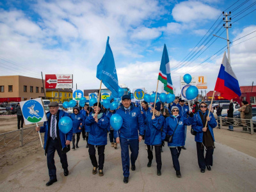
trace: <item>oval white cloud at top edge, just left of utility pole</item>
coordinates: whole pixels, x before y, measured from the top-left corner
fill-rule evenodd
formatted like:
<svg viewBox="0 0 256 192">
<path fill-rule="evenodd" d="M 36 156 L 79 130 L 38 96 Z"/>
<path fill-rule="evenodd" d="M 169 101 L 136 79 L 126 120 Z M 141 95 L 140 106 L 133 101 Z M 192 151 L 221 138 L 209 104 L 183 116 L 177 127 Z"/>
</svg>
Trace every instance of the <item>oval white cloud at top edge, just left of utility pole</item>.
<svg viewBox="0 0 256 192">
<path fill-rule="evenodd" d="M 221 11 L 198 1 L 182 1 L 172 10 L 173 19 L 178 22 L 204 22 L 216 19 Z"/>
</svg>

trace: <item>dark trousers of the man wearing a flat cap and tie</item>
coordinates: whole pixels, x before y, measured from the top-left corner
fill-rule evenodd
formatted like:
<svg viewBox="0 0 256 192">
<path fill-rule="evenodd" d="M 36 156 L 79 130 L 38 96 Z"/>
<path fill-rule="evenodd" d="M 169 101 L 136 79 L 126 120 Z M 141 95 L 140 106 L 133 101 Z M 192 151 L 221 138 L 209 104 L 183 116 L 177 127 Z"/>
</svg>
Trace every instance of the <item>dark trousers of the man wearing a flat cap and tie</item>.
<svg viewBox="0 0 256 192">
<path fill-rule="evenodd" d="M 50 179 L 56 179 L 56 166 L 55 166 L 55 161 L 54 161 L 54 154 L 55 150 L 57 150 L 58 155 L 60 157 L 60 163 L 62 165 L 62 168 L 68 168 L 68 160 L 67 160 L 67 154 L 61 154 L 61 148 L 60 148 L 60 143 L 58 139 L 52 140 L 50 137 L 48 139 L 48 144 L 47 144 L 47 166 L 49 170 L 49 176 Z"/>
</svg>

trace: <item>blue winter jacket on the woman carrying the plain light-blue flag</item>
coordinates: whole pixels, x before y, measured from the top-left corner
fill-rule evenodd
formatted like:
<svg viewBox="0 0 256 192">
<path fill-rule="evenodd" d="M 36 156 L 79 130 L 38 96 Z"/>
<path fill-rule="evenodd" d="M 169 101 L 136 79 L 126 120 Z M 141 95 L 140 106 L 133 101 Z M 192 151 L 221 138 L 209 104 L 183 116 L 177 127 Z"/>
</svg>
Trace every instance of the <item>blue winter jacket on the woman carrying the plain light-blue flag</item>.
<svg viewBox="0 0 256 192">
<path fill-rule="evenodd" d="M 91 145 L 107 145 L 108 137 L 108 117 L 103 113 L 102 117 L 95 122 L 92 113 L 86 118 L 85 124 L 90 126 L 88 143 Z"/>
</svg>

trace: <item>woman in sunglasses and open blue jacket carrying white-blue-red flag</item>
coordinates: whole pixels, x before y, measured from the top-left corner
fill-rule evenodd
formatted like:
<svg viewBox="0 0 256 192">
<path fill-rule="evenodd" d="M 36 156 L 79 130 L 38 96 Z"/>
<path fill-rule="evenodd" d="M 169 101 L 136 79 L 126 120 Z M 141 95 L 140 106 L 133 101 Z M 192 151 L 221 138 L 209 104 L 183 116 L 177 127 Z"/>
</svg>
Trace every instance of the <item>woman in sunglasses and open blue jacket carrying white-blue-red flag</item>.
<svg viewBox="0 0 256 192">
<path fill-rule="evenodd" d="M 194 115 L 192 129 L 197 132 L 195 135 L 197 159 L 202 173 L 205 172 L 205 166 L 207 167 L 207 170 L 211 170 L 212 155 L 215 148 L 212 129 L 217 126 L 217 122 L 213 114 L 210 113 L 209 116 L 207 115 L 207 104 L 205 102 L 201 102 L 199 110 Z M 206 122 L 207 126 L 205 127 Z M 204 148 L 206 150 L 205 157 Z"/>
</svg>

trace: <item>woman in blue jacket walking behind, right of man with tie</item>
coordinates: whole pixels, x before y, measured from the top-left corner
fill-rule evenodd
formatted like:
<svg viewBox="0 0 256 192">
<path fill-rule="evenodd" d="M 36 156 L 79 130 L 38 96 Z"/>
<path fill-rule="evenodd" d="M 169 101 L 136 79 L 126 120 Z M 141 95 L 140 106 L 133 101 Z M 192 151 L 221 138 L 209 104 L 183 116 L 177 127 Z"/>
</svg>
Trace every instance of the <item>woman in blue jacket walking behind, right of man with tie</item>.
<svg viewBox="0 0 256 192">
<path fill-rule="evenodd" d="M 73 113 L 70 115 L 70 118 L 72 119 L 72 122 L 73 122 L 72 149 L 75 149 L 75 142 L 76 142 L 76 148 L 79 148 L 78 142 L 80 140 L 80 134 L 82 132 L 82 127 L 84 126 L 84 120 L 86 117 L 83 115 L 83 113 L 80 113 L 79 108 L 76 107 L 73 109 Z"/>
</svg>

